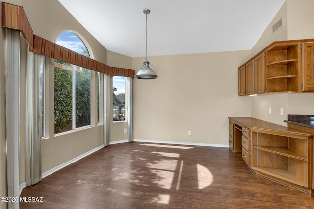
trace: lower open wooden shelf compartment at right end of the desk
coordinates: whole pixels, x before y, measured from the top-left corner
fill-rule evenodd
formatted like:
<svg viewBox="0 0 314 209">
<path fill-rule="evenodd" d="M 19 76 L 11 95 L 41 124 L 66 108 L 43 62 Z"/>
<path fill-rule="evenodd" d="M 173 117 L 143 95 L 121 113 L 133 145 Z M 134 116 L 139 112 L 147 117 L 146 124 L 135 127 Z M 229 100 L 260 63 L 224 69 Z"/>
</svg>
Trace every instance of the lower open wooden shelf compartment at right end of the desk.
<svg viewBox="0 0 314 209">
<path fill-rule="evenodd" d="M 283 183 L 309 187 L 310 140 L 253 132 L 253 165 L 255 172 Z"/>
</svg>

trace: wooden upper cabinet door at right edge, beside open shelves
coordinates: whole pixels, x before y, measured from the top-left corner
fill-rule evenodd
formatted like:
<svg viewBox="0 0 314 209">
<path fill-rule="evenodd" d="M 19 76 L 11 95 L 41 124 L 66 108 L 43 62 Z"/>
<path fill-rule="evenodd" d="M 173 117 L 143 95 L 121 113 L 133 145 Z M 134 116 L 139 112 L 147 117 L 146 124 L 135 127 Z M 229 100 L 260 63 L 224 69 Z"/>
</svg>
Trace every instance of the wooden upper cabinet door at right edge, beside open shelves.
<svg viewBox="0 0 314 209">
<path fill-rule="evenodd" d="M 314 91 L 314 42 L 302 44 L 302 91 Z"/>
</svg>

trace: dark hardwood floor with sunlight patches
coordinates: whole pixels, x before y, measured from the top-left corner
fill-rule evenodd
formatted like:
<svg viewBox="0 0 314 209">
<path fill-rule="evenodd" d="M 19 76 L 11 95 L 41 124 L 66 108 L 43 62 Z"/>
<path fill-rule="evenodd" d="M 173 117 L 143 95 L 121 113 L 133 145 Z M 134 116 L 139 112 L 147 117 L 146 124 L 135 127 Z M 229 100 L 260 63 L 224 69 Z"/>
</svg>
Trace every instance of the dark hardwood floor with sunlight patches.
<svg viewBox="0 0 314 209">
<path fill-rule="evenodd" d="M 255 175 L 228 148 L 105 147 L 23 189 L 21 209 L 310 209 L 314 197 Z"/>
</svg>

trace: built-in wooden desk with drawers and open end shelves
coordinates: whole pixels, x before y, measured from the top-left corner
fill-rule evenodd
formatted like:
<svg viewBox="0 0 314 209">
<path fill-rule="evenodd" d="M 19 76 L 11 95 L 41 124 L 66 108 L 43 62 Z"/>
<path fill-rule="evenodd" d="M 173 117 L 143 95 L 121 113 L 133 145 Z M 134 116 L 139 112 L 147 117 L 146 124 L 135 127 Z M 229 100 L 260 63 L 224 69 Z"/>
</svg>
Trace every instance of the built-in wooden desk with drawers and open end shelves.
<svg viewBox="0 0 314 209">
<path fill-rule="evenodd" d="M 251 117 L 229 117 L 233 152 L 241 152 L 243 160 L 256 174 L 301 189 L 311 196 L 314 195 L 313 137 L 314 133 Z M 241 149 L 238 145 L 242 145 Z"/>
</svg>

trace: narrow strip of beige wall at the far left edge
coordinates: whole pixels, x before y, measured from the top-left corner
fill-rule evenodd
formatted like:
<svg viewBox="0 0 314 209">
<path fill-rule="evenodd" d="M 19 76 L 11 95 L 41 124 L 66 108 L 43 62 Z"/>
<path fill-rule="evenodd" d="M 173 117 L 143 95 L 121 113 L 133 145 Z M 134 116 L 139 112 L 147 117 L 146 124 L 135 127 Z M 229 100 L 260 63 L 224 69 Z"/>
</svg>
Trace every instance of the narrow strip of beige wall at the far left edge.
<svg viewBox="0 0 314 209">
<path fill-rule="evenodd" d="M 2 6 L 0 5 L 0 11 Z M 1 20 L 0 15 L 0 20 Z M 6 124 L 5 117 L 5 29 L 0 29 L 0 124 Z M 7 197 L 7 169 L 6 164 L 6 127 L 0 125 L 0 196 Z M 0 202 L 0 208 L 7 208 L 5 202 Z"/>
</svg>

